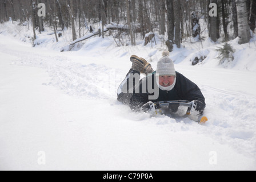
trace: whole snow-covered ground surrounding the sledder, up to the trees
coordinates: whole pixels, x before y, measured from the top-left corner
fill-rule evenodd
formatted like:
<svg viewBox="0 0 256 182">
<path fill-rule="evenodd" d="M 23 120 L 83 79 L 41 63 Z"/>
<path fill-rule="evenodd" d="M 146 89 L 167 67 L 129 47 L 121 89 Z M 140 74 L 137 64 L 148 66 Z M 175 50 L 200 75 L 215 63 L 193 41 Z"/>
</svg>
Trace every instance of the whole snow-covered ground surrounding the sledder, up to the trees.
<svg viewBox="0 0 256 182">
<path fill-rule="evenodd" d="M 199 125 L 133 113 L 116 100 L 129 57 L 156 68 L 161 42 L 117 47 L 95 37 L 79 51 L 60 52 L 66 36 L 54 43 L 54 35 L 38 35 L 42 44 L 31 47 L 22 30 L 10 32 L 0 27 L 1 170 L 256 169 L 255 38 L 230 42 L 236 52 L 228 69 L 209 40 L 171 53 L 177 71 L 206 97 L 209 121 Z M 198 54 L 207 58 L 193 67 Z"/>
</svg>

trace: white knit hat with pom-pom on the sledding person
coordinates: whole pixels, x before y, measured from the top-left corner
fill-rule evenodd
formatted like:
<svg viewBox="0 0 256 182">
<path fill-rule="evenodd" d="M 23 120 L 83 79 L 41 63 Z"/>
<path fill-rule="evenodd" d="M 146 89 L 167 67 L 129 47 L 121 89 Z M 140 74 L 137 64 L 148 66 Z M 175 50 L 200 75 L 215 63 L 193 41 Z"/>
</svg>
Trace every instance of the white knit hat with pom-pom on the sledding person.
<svg viewBox="0 0 256 182">
<path fill-rule="evenodd" d="M 170 59 L 169 51 L 163 51 L 162 58 L 157 63 L 157 74 L 159 76 L 176 76 L 173 60 Z"/>
</svg>

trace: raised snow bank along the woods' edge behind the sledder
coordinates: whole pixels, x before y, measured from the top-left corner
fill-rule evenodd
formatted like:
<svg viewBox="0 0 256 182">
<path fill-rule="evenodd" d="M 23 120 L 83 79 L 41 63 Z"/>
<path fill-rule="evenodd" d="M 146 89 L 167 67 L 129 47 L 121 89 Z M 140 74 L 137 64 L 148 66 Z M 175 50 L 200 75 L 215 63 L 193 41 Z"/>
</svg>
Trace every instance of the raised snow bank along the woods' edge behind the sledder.
<svg viewBox="0 0 256 182">
<path fill-rule="evenodd" d="M 27 24 L 26 26 L 19 26 L 17 22 L 12 24 L 11 22 L 6 22 L 1 24 L 1 33 L 2 35 L 12 35 L 17 37 L 19 40 L 23 42 L 29 42 L 34 44 L 36 47 L 41 48 L 50 48 L 56 51 L 79 51 L 80 54 L 83 55 L 90 55 L 97 57 L 100 55 L 113 55 L 113 56 L 126 56 L 129 59 L 130 55 L 137 54 L 151 62 L 157 62 L 161 58 L 161 52 L 164 49 L 167 49 L 165 46 L 165 37 L 159 35 L 158 32 L 154 32 L 155 38 L 147 44 L 144 45 L 144 41 L 137 41 L 137 46 L 124 46 L 118 47 L 115 43 L 113 36 L 105 36 L 105 39 L 99 38 L 98 35 L 94 36 L 93 38 L 84 40 L 83 42 L 76 43 L 73 46 L 70 46 L 70 43 L 73 43 L 71 38 L 71 30 L 65 29 L 63 31 L 59 31 L 62 33 L 59 42 L 57 43 L 55 40 L 55 35 L 53 34 L 53 30 L 51 28 L 46 27 L 46 31 L 39 34 L 37 32 L 37 39 L 32 41 L 33 32 L 30 30 L 28 31 Z M 201 26 L 203 30 L 206 29 L 205 23 L 201 20 Z M 117 27 L 124 27 L 122 24 L 109 24 L 108 28 L 117 28 Z M 149 33 L 151 34 L 151 33 Z M 83 39 L 85 37 L 91 36 L 92 33 L 87 32 L 85 36 L 79 39 Z M 202 33 L 202 36 L 207 35 L 207 30 Z M 256 63 L 254 61 L 255 57 L 255 49 L 256 49 L 256 36 L 252 34 L 253 38 L 251 38 L 250 43 L 247 44 L 238 44 L 238 38 L 231 40 L 228 42 L 231 47 L 235 50 L 233 56 L 234 60 L 230 63 L 225 65 L 219 64 L 218 60 L 218 52 L 217 48 L 221 47 L 221 43 L 214 43 L 211 42 L 210 38 L 205 38 L 202 42 L 198 39 L 190 38 L 185 40 L 182 43 L 181 48 L 177 48 L 174 45 L 173 52 L 170 53 L 171 59 L 173 59 L 175 64 L 184 64 L 184 65 L 191 65 L 192 61 L 195 57 L 199 59 L 202 57 L 203 61 L 199 62 L 199 64 L 195 66 L 199 67 L 207 67 L 207 68 L 228 68 L 228 69 L 235 69 L 241 71 L 256 71 Z M 33 43 L 32 43 L 33 42 Z M 128 40 L 124 40 L 125 45 L 129 45 Z M 111 52 L 111 53 L 110 53 Z M 154 63 L 153 63 L 154 64 Z"/>
</svg>

